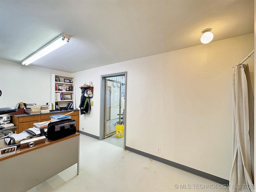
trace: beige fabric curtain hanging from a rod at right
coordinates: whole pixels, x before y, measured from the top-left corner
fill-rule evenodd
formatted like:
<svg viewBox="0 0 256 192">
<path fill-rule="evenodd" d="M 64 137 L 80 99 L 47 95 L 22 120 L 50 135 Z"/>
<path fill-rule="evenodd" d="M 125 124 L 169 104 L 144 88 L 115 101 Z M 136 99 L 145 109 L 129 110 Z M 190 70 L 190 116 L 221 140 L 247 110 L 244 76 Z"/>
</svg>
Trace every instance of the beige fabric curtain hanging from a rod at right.
<svg viewBox="0 0 256 192">
<path fill-rule="evenodd" d="M 254 96 L 248 64 L 232 68 L 233 164 L 230 192 L 254 192 Z"/>
</svg>

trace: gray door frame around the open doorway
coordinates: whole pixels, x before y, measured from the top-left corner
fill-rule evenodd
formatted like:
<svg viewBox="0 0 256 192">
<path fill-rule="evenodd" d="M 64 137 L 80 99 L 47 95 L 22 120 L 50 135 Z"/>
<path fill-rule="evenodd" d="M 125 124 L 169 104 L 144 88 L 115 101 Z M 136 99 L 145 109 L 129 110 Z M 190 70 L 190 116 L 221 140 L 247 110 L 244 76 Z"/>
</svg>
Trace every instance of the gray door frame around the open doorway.
<svg viewBox="0 0 256 192">
<path fill-rule="evenodd" d="M 105 79 L 108 77 L 115 77 L 115 76 L 124 76 L 124 149 L 125 149 L 125 142 L 126 142 L 126 95 L 127 95 L 127 71 L 125 72 L 118 72 L 113 74 L 106 74 L 100 76 L 100 140 L 104 137 L 104 118 L 105 118 Z M 121 86 L 120 86 L 121 91 Z"/>
</svg>

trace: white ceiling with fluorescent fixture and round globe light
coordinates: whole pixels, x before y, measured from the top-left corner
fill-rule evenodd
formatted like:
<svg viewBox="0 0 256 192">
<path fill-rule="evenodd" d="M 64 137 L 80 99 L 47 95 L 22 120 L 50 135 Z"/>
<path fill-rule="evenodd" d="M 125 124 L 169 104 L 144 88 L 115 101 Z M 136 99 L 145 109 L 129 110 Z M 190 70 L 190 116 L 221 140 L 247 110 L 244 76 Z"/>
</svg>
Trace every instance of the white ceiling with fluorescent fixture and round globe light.
<svg viewBox="0 0 256 192">
<path fill-rule="evenodd" d="M 0 0 L 0 58 L 19 62 L 56 36 L 70 42 L 33 66 L 78 72 L 254 32 L 254 0 Z M 24 66 L 28 67 L 28 66 Z"/>
</svg>

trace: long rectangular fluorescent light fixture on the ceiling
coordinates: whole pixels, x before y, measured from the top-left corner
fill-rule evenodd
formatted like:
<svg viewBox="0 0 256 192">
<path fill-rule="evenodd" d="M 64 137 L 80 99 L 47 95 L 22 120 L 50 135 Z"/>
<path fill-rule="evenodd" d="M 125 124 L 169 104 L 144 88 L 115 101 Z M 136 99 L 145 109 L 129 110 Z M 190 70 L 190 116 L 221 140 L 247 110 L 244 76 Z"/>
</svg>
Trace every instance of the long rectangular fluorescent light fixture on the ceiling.
<svg viewBox="0 0 256 192">
<path fill-rule="evenodd" d="M 59 35 L 58 37 L 56 37 L 51 42 L 49 42 L 48 44 L 46 44 L 45 46 L 43 46 L 42 48 L 40 48 L 39 50 L 37 50 L 36 52 L 34 52 L 33 54 L 31 54 L 30 56 L 28 56 L 26 59 L 24 59 L 21 62 L 21 64 L 28 65 L 28 64 L 38 60 L 39 58 L 47 55 L 48 53 L 58 49 L 62 45 L 68 43 L 69 40 L 70 40 L 70 36 L 63 33 L 63 34 Z"/>
</svg>

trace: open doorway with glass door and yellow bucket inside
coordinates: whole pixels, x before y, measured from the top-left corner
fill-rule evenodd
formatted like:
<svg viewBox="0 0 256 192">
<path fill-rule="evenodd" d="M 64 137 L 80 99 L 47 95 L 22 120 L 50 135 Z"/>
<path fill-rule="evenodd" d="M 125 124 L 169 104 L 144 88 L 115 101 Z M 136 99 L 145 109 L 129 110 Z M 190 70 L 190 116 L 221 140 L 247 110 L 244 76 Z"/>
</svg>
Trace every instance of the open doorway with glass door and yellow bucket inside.
<svg viewBox="0 0 256 192">
<path fill-rule="evenodd" d="M 101 76 L 100 140 L 125 148 L 126 72 Z M 124 127 L 122 136 L 116 126 Z M 118 134 L 118 135 L 116 135 Z"/>
</svg>

